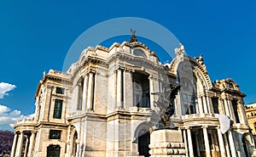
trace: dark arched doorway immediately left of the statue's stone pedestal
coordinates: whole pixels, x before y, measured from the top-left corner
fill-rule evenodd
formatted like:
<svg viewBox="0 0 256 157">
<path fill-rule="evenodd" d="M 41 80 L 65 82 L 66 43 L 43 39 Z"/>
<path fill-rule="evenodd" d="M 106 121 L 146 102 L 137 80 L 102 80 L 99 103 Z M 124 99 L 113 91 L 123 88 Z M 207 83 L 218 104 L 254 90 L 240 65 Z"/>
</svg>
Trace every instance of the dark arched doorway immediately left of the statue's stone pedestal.
<svg viewBox="0 0 256 157">
<path fill-rule="evenodd" d="M 140 155 L 144 155 L 145 157 L 149 156 L 149 147 L 150 144 L 150 134 L 148 131 L 143 129 L 139 132 L 138 137 L 138 152 Z"/>
</svg>

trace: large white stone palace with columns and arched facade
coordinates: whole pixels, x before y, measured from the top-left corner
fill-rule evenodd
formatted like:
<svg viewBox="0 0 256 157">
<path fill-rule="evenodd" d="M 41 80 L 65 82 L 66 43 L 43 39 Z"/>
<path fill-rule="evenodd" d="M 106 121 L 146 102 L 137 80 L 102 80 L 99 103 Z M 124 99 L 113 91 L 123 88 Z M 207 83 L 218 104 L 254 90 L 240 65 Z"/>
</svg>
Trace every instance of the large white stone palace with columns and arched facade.
<svg viewBox="0 0 256 157">
<path fill-rule="evenodd" d="M 245 94 L 232 79 L 212 83 L 183 45 L 175 53 L 161 64 L 133 40 L 86 48 L 66 73 L 49 70 L 34 119 L 15 124 L 11 156 L 149 156 L 150 132 L 166 126 L 183 134 L 186 156 L 252 156 Z"/>
</svg>

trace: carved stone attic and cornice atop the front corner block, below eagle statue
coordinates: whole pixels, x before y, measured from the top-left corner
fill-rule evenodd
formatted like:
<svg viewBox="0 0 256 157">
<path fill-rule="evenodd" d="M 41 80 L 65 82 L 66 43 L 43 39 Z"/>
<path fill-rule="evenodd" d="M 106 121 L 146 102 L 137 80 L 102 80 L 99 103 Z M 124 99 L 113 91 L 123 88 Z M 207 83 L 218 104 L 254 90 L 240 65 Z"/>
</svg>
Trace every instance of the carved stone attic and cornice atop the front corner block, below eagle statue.
<svg viewBox="0 0 256 157">
<path fill-rule="evenodd" d="M 122 58 L 122 56 L 124 58 Z M 133 59 L 131 58 L 133 56 Z M 160 64 L 160 61 L 154 52 L 151 52 L 141 42 L 123 42 L 113 43 L 108 49 L 102 46 L 96 46 L 96 48 L 86 48 L 79 57 L 79 61 L 72 64 L 67 70 L 68 74 L 76 76 L 76 73 L 87 63 L 102 64 L 108 66 L 115 59 L 139 59 L 139 61 L 151 61 L 154 64 Z M 130 60 L 129 60 L 130 61 Z M 146 62 L 147 63 L 147 62 Z M 151 64 L 151 65 L 154 65 Z"/>
</svg>

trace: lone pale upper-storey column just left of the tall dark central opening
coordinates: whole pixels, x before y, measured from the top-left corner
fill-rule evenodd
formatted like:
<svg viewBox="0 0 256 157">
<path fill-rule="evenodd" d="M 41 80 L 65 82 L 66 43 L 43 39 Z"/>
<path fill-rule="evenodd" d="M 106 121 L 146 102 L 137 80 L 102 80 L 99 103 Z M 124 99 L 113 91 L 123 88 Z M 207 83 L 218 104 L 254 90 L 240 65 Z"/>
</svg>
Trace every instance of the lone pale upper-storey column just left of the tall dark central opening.
<svg viewBox="0 0 256 157">
<path fill-rule="evenodd" d="M 118 109 L 122 108 L 122 70 L 117 70 L 116 82 L 116 105 Z"/>
</svg>

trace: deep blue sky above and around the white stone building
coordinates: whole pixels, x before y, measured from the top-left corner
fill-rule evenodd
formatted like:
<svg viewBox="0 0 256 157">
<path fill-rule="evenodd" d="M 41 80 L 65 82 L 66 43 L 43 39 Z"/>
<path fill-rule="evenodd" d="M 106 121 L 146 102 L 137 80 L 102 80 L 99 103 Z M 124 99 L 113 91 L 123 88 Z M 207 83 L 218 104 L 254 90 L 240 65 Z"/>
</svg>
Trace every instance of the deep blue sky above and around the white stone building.
<svg viewBox="0 0 256 157">
<path fill-rule="evenodd" d="M 253 0 L 1 1 L 0 129 L 11 129 L 9 123 L 32 115 L 43 72 L 62 70 L 68 49 L 80 34 L 120 17 L 139 17 L 165 26 L 190 56 L 203 53 L 212 81 L 230 77 L 247 94 L 246 104 L 254 102 L 255 4 Z"/>
</svg>

